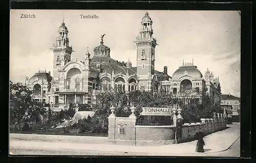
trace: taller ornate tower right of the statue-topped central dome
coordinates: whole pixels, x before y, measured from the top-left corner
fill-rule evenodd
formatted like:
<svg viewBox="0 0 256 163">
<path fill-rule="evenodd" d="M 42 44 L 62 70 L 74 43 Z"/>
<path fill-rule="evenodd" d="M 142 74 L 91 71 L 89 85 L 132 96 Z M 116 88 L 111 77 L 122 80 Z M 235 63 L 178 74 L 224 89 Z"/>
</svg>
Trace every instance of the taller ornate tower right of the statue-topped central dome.
<svg viewBox="0 0 256 163">
<path fill-rule="evenodd" d="M 137 75 L 139 77 L 139 89 L 151 91 L 151 76 L 155 71 L 155 47 L 157 41 L 152 37 L 152 19 L 145 13 L 141 20 L 141 29 L 136 38 L 137 49 Z"/>
</svg>

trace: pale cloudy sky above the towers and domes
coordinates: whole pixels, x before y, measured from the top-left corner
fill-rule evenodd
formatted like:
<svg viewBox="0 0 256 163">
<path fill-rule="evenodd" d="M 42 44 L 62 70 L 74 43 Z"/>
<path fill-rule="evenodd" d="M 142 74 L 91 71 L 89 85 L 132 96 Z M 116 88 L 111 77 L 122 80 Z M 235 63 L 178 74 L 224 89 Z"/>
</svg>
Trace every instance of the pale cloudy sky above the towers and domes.
<svg viewBox="0 0 256 163">
<path fill-rule="evenodd" d="M 38 69 L 53 70 L 57 31 L 63 19 L 69 31 L 72 57 L 79 61 L 100 44 L 111 48 L 111 58 L 136 66 L 134 43 L 145 10 L 11 10 L 10 80 L 24 83 Z M 155 69 L 168 74 L 192 62 L 204 75 L 206 69 L 220 79 L 222 94 L 240 97 L 241 19 L 238 11 L 147 10 L 157 39 Z M 34 14 L 35 18 L 20 18 Z M 98 15 L 83 19 L 80 15 Z"/>
</svg>

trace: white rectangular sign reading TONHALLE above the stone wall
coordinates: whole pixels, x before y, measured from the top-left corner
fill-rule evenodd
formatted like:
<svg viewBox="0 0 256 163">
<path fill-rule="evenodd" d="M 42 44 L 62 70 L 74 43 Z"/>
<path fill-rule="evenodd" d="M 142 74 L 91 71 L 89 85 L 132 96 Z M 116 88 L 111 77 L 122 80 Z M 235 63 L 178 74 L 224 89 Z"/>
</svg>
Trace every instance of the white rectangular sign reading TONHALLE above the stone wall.
<svg viewBox="0 0 256 163">
<path fill-rule="evenodd" d="M 142 116 L 172 116 L 171 108 L 142 107 Z"/>
</svg>

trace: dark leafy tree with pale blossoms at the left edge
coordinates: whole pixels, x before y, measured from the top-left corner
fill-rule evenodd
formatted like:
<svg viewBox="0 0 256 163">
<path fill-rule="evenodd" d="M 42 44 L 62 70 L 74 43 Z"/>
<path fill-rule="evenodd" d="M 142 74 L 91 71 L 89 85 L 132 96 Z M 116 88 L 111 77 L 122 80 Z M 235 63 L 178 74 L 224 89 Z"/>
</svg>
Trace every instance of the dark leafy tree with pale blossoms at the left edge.
<svg viewBox="0 0 256 163">
<path fill-rule="evenodd" d="M 46 113 L 46 109 L 32 99 L 32 94 L 22 83 L 10 81 L 10 123 L 39 121 L 39 116 Z"/>
</svg>

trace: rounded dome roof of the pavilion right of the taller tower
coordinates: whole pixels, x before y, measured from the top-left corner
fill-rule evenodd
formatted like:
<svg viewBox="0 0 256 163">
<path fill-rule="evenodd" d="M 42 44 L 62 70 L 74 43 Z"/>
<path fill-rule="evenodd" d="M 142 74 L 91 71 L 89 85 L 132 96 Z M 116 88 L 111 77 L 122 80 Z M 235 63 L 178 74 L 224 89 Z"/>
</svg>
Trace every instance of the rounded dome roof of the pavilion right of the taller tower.
<svg viewBox="0 0 256 163">
<path fill-rule="evenodd" d="M 189 65 L 189 66 L 181 66 L 178 70 L 176 70 L 173 74 L 173 79 L 179 79 L 183 75 L 189 75 L 193 78 L 202 78 L 202 73 L 197 69 L 197 66 Z"/>
</svg>

